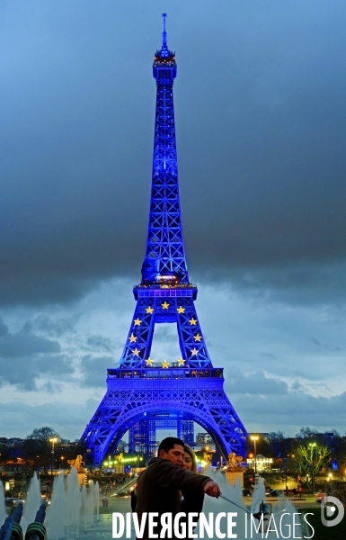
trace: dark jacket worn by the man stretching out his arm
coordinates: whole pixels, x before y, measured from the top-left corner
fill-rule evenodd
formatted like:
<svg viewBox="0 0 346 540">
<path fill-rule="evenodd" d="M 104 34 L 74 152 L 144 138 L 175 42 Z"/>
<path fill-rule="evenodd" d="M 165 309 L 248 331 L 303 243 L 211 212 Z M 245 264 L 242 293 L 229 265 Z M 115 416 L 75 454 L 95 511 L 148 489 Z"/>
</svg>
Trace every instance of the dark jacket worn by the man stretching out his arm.
<svg viewBox="0 0 346 540">
<path fill-rule="evenodd" d="M 202 492 L 209 480 L 211 479 L 208 476 L 192 473 L 166 459 L 153 457 L 138 478 L 136 505 L 138 518 L 141 520 L 143 512 L 158 512 L 159 516 L 155 521 L 160 523 L 164 512 L 172 512 L 174 519 L 174 516 L 182 511 L 180 491 Z M 159 537 L 160 529 L 158 526 L 154 531 Z M 143 540 L 150 540 L 147 527 Z"/>
</svg>

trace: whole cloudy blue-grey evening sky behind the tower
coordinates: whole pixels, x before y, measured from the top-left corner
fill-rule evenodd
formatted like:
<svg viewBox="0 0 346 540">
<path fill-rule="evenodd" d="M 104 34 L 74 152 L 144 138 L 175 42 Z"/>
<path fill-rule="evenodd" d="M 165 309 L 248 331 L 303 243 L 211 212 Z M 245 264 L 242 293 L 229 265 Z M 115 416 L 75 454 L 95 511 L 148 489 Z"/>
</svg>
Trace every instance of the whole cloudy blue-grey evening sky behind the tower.
<svg viewBox="0 0 346 540">
<path fill-rule="evenodd" d="M 164 11 L 212 362 L 249 431 L 344 434 L 344 0 L 2 0 L 0 435 L 49 425 L 79 438 L 119 362 Z M 152 356 L 176 354 L 161 325 Z"/>
</svg>

